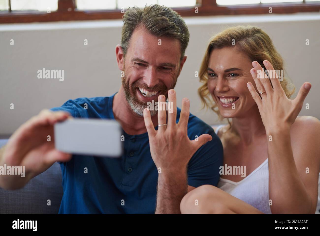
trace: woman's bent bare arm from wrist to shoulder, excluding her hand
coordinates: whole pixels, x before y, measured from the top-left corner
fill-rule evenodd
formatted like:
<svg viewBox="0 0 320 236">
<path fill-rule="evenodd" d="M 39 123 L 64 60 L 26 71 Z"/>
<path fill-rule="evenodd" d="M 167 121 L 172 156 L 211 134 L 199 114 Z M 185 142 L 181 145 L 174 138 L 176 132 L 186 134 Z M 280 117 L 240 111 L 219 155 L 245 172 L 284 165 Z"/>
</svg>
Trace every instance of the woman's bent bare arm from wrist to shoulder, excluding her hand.
<svg viewBox="0 0 320 236">
<path fill-rule="evenodd" d="M 272 213 L 314 214 L 316 211 L 320 122 L 314 117 L 303 119 L 295 124 L 300 132 L 292 132 L 300 137 L 291 137 L 290 131 L 279 127 L 272 133 L 272 141 L 268 141 Z"/>
</svg>

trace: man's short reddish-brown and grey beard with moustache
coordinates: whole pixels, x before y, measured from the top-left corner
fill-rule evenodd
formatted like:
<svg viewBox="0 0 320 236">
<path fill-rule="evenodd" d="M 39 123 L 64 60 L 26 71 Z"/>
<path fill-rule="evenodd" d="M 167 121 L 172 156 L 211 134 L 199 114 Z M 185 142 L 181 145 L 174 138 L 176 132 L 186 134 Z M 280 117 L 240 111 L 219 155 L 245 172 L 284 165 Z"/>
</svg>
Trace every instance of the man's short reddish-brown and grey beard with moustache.
<svg viewBox="0 0 320 236">
<path fill-rule="evenodd" d="M 136 94 L 137 88 L 144 88 L 144 89 L 152 90 L 152 91 L 161 91 L 161 94 L 164 94 L 164 96 L 166 96 L 166 99 L 168 96 L 168 90 L 171 89 L 171 88 L 167 89 L 165 87 L 165 85 L 156 85 L 152 88 L 149 88 L 145 83 L 143 83 L 143 82 L 141 83 L 139 81 L 135 81 L 132 84 L 132 87 L 130 88 L 129 81 L 126 80 L 125 76 L 122 77 L 121 80 L 122 80 L 122 86 L 124 88 L 125 98 L 126 98 L 128 104 L 130 105 L 132 111 L 139 116 L 143 116 L 143 110 L 148 107 L 148 104 L 145 102 L 141 102 L 139 100 L 139 98 L 137 97 L 137 94 Z M 173 84 L 173 88 L 176 85 L 176 82 L 177 82 L 177 80 Z M 154 100 L 155 100 L 155 102 L 157 102 L 158 97 L 156 97 L 156 99 L 154 99 Z M 152 100 L 151 100 L 151 103 L 152 103 Z M 151 116 L 154 116 L 157 114 L 157 111 L 150 110 L 150 114 L 151 114 Z"/>
</svg>

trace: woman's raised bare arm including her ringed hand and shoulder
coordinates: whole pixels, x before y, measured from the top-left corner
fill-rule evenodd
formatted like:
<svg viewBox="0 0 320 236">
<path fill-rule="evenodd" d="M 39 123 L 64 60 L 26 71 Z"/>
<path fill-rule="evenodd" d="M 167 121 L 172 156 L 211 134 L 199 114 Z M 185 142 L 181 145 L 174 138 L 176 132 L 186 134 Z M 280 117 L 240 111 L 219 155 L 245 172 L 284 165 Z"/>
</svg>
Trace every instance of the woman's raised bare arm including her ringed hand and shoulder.
<svg viewBox="0 0 320 236">
<path fill-rule="evenodd" d="M 274 70 L 268 61 L 263 63 L 269 71 Z M 316 118 L 310 119 L 308 123 L 311 124 L 302 127 L 301 134 L 294 135 L 301 135 L 300 142 L 294 144 L 295 152 L 291 145 L 292 138 L 296 138 L 291 137 L 292 125 L 297 120 L 311 84 L 305 82 L 297 97 L 291 100 L 286 97 L 276 73 L 275 78 L 269 79 L 267 75 L 260 76 L 257 73 L 264 71 L 258 62 L 252 62 L 252 66 L 254 68 L 250 72 L 260 95 L 250 82 L 247 85 L 258 105 L 268 139 L 271 211 L 315 213 L 319 173 L 319 121 Z"/>
</svg>

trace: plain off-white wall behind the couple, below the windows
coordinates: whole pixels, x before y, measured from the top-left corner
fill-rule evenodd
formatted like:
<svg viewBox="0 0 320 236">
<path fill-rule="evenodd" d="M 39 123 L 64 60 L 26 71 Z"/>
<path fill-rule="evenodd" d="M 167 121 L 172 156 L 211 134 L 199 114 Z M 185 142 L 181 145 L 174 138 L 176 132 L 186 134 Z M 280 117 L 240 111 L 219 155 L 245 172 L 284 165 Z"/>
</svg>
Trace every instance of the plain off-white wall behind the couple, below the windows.
<svg viewBox="0 0 320 236">
<path fill-rule="evenodd" d="M 191 100 L 191 113 L 208 124 L 217 124 L 212 111 L 200 111 L 195 71 L 209 38 L 228 26 L 251 24 L 272 38 L 284 57 L 288 76 L 299 90 L 312 84 L 306 99 L 310 109 L 300 115 L 320 118 L 318 104 L 320 14 L 253 15 L 185 18 L 190 31 L 187 62 L 176 86 L 178 101 Z M 44 108 L 62 105 L 77 97 L 109 96 L 120 86 L 115 46 L 120 43 L 121 20 L 32 24 L 0 24 L 0 135 L 11 134 Z M 14 46 L 10 40 L 14 40 Z M 84 46 L 88 39 L 88 46 Z M 305 45 L 309 39 L 310 45 Z M 37 79 L 37 70 L 64 69 L 64 81 Z M 14 104 L 14 110 L 10 104 Z"/>
</svg>

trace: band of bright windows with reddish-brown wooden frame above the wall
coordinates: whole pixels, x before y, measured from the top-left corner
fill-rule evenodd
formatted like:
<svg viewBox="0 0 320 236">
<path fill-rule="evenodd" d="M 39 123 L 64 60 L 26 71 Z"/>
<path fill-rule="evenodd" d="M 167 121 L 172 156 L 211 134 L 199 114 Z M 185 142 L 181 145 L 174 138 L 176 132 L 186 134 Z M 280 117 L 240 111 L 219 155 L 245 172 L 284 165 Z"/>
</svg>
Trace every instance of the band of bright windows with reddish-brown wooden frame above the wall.
<svg viewBox="0 0 320 236">
<path fill-rule="evenodd" d="M 0 0 L 0 23 L 121 19 L 123 9 L 146 4 L 183 17 L 320 11 L 320 0 Z"/>
</svg>

